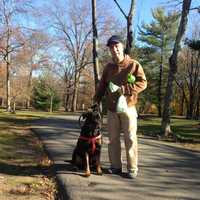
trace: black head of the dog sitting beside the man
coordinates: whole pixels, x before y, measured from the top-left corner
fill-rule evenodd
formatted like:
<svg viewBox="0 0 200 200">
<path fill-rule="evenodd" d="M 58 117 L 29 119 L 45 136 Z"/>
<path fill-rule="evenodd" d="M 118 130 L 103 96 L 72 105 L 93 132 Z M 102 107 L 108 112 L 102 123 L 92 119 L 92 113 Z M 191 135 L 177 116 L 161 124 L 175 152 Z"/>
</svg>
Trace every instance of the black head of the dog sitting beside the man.
<svg viewBox="0 0 200 200">
<path fill-rule="evenodd" d="M 92 110 L 83 113 L 79 118 L 81 126 L 81 135 L 86 137 L 93 137 L 99 134 L 101 127 L 101 115 L 98 110 Z"/>
</svg>

